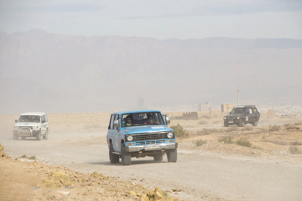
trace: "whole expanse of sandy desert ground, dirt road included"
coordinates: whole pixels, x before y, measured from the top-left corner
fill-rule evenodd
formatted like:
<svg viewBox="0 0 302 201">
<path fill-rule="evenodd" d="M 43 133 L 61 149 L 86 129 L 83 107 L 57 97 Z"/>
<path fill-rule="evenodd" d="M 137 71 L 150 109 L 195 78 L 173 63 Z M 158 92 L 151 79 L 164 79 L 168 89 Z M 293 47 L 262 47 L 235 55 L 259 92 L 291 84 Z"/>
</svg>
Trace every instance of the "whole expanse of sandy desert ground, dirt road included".
<svg viewBox="0 0 302 201">
<path fill-rule="evenodd" d="M 0 158 L 1 200 L 135 200 L 155 187 L 182 200 L 302 199 L 301 116 L 260 118 L 257 127 L 225 128 L 221 118 L 169 126 L 177 124 L 189 137 L 178 138 L 176 163 L 146 157 L 132 158 L 130 166 L 110 164 L 107 125 L 51 127 L 41 141 L 13 140 L 12 128 L 2 127 L 0 143 L 11 158 Z M 73 188 L 45 182 L 55 171 L 67 174 Z"/>
</svg>

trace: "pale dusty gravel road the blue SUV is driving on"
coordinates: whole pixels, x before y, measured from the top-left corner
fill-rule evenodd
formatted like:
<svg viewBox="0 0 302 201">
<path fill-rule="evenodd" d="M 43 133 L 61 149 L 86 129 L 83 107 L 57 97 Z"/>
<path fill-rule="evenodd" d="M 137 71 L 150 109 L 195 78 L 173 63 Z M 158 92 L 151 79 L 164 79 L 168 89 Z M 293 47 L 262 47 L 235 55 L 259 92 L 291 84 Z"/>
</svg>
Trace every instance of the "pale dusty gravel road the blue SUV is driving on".
<svg viewBox="0 0 302 201">
<path fill-rule="evenodd" d="M 227 154 L 180 140 L 178 160 L 155 162 L 153 158 L 132 158 L 130 166 L 110 164 L 107 130 L 101 128 L 52 127 L 48 140 L 13 140 L 1 135 L 0 142 L 11 157 L 35 155 L 40 163 L 63 165 L 82 173 L 98 171 L 120 180 L 160 189 L 184 200 L 301 200 L 301 157 L 280 155 Z M 210 146 L 217 146 L 208 144 Z M 219 146 L 219 145 L 218 145 Z M 246 147 L 225 144 L 226 150 Z"/>
</svg>

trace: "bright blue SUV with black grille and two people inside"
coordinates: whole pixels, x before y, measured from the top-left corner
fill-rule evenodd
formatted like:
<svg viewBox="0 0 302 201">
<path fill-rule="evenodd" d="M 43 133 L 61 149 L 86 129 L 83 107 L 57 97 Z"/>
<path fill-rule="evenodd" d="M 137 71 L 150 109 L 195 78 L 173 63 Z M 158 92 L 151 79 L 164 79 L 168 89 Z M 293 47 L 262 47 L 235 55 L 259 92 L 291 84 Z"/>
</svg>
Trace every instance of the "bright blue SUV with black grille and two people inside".
<svg viewBox="0 0 302 201">
<path fill-rule="evenodd" d="M 164 115 L 165 116 L 165 115 Z M 162 161 L 177 161 L 177 143 L 174 130 L 167 127 L 170 117 L 160 111 L 118 111 L 111 114 L 107 143 L 110 163 L 131 165 L 131 158 L 151 156 Z"/>
</svg>

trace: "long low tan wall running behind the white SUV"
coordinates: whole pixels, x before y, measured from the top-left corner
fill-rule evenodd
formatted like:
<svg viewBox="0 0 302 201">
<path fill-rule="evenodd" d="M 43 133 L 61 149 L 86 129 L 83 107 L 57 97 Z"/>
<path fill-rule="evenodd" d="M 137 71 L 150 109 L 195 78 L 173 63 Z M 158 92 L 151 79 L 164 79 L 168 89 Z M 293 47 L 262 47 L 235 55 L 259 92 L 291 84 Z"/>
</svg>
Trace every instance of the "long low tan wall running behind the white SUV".
<svg viewBox="0 0 302 201">
<path fill-rule="evenodd" d="M 66 125 L 95 125 L 108 124 L 111 113 L 76 113 L 76 114 L 47 114 L 48 121 L 53 126 Z M 0 115 L 0 125 L 15 124 L 19 115 Z"/>
</svg>

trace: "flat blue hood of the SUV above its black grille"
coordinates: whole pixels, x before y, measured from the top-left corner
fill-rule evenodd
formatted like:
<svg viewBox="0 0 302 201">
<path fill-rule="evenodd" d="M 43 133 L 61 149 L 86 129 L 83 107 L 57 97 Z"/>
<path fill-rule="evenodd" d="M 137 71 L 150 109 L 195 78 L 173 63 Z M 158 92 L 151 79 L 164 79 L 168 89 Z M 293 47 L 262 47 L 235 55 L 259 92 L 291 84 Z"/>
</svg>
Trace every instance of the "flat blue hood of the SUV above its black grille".
<svg viewBox="0 0 302 201">
<path fill-rule="evenodd" d="M 128 134 L 136 133 L 153 133 L 153 132 L 165 132 L 172 131 L 172 128 L 168 128 L 165 125 L 146 125 L 146 126 L 133 126 L 122 128 Z"/>
</svg>

